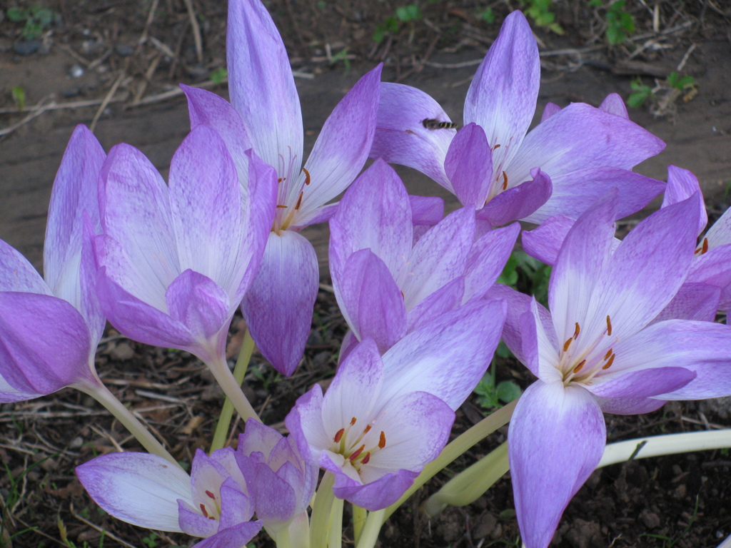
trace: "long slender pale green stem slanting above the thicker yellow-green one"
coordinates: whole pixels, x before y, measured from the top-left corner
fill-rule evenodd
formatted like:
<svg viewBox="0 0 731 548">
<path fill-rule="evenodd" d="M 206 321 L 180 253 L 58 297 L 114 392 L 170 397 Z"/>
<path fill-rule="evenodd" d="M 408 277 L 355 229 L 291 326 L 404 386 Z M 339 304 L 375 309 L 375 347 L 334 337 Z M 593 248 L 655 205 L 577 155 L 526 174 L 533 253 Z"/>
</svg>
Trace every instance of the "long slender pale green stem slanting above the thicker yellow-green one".
<svg viewBox="0 0 731 548">
<path fill-rule="evenodd" d="M 510 417 L 512 416 L 512 412 L 515 410 L 516 405 L 518 405 L 518 400 L 514 400 L 508 403 L 507 406 L 499 408 L 497 411 L 486 416 L 478 422 L 477 425 L 474 425 L 444 447 L 442 452 L 439 453 L 439 457 L 436 457 L 436 459 L 424 467 L 421 473 L 414 480 L 414 484 L 406 490 L 404 495 L 385 510 L 384 520 L 387 520 L 390 515 L 406 501 L 407 498 L 413 495 L 419 487 L 428 482 L 436 475 L 436 473 L 442 471 L 442 469 L 451 463 L 452 460 L 455 460 L 471 446 L 474 446 L 474 444 L 477 444 L 487 438 L 488 435 L 491 435 L 491 433 L 499 427 L 507 425 L 507 423 L 510 422 Z M 368 517 L 368 519 L 370 519 L 370 517 Z"/>
</svg>

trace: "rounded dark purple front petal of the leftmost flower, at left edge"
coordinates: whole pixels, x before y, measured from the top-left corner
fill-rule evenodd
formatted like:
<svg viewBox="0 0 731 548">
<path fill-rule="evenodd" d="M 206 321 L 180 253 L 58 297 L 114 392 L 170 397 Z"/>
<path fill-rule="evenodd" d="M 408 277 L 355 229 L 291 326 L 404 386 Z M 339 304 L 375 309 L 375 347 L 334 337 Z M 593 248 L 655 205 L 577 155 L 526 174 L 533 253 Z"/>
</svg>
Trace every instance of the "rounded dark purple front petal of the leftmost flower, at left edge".
<svg viewBox="0 0 731 548">
<path fill-rule="evenodd" d="M 86 323 L 69 302 L 0 292 L 0 375 L 16 391 L 37 397 L 96 383 L 90 346 Z"/>
</svg>

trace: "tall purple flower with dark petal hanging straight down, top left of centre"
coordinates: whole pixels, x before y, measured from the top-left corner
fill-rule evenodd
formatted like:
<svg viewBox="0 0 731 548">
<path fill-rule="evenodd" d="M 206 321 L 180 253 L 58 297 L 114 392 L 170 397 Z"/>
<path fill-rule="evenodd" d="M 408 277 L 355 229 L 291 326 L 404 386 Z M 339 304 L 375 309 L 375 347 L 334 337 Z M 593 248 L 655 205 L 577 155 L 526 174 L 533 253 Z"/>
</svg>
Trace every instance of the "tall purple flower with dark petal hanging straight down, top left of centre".
<svg viewBox="0 0 731 548">
<path fill-rule="evenodd" d="M 334 205 L 325 204 L 347 188 L 368 158 L 381 67 L 362 77 L 333 110 L 303 166 L 302 115 L 292 69 L 279 31 L 259 0 L 229 2 L 227 59 L 233 107 L 207 91 L 183 90 L 192 126 L 207 123 L 219 131 L 244 186 L 247 148 L 276 169 L 276 216 L 242 311 L 262 354 L 289 376 L 304 351 L 319 282 L 314 248 L 298 231 L 332 216 Z"/>
</svg>

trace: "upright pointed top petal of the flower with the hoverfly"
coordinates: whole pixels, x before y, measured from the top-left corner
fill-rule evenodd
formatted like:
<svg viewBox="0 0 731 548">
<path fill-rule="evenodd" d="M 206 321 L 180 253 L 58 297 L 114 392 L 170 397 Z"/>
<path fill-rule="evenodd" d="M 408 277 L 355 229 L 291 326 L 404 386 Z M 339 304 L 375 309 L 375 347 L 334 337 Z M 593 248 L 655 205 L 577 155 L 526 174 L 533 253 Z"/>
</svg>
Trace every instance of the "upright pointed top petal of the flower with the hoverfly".
<svg viewBox="0 0 731 548">
<path fill-rule="evenodd" d="M 512 12 L 475 72 L 464 102 L 465 123 L 482 126 L 491 146 L 504 147 L 504 164 L 515 157 L 533 119 L 540 67 L 538 45 L 525 15 Z"/>
</svg>

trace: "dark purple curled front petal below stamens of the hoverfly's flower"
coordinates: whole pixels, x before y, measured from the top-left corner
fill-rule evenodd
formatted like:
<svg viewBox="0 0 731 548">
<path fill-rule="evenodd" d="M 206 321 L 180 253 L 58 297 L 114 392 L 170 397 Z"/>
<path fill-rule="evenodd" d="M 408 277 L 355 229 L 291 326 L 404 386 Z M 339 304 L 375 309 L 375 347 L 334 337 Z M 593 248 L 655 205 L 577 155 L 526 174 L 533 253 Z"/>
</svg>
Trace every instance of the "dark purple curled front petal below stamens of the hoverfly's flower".
<svg viewBox="0 0 731 548">
<path fill-rule="evenodd" d="M 477 216 L 493 227 L 518 219 L 529 219 L 535 210 L 545 204 L 553 192 L 550 177 L 539 169 L 531 170 L 531 180 L 513 186 L 485 204 Z"/>
</svg>

